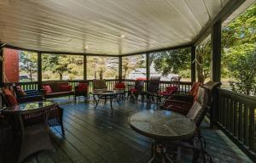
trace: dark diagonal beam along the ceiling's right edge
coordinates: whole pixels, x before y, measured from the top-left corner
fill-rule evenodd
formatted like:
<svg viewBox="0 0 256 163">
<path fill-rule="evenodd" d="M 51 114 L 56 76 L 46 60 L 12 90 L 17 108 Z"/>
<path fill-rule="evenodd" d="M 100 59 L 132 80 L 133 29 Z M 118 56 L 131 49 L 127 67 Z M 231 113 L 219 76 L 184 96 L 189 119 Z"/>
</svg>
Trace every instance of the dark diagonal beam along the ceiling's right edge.
<svg viewBox="0 0 256 163">
<path fill-rule="evenodd" d="M 217 16 L 215 16 L 212 21 L 208 22 L 207 25 L 205 25 L 201 29 L 198 36 L 192 40 L 192 42 L 194 42 L 194 45 L 196 46 L 204 41 L 204 39 L 206 39 L 206 37 L 211 33 L 212 25 L 214 25 L 218 21 L 223 22 L 224 20 L 226 20 L 230 16 L 230 14 L 232 14 L 237 8 L 239 8 L 241 4 L 245 1 L 246 0 L 230 0 L 228 3 L 226 3 L 224 8 L 222 8 Z"/>
</svg>

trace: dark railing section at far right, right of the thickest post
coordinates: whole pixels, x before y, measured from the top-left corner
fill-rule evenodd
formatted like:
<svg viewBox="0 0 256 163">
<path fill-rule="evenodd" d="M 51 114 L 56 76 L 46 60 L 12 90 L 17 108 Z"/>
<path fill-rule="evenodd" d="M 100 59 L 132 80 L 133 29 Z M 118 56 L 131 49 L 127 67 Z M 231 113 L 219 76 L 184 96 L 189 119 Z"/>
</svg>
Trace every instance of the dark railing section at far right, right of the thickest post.
<svg viewBox="0 0 256 163">
<path fill-rule="evenodd" d="M 216 121 L 241 149 L 256 160 L 256 97 L 218 89 Z"/>
</svg>

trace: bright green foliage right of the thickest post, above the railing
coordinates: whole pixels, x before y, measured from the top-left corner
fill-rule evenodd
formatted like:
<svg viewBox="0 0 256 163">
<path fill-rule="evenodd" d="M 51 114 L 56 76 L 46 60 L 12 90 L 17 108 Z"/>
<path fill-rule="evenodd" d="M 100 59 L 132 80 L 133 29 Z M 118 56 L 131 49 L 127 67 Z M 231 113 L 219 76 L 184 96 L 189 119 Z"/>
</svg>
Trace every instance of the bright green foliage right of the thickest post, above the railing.
<svg viewBox="0 0 256 163">
<path fill-rule="evenodd" d="M 222 77 L 228 77 L 233 91 L 256 94 L 256 4 L 248 8 L 222 31 Z"/>
</svg>

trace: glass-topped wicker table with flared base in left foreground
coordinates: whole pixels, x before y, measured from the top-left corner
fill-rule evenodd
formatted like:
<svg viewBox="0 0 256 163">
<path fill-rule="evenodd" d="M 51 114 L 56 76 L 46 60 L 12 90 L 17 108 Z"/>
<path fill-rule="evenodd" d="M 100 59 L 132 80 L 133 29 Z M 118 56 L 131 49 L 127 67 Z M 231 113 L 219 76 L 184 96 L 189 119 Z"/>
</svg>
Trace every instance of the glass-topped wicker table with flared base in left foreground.
<svg viewBox="0 0 256 163">
<path fill-rule="evenodd" d="M 53 101 L 38 101 L 17 104 L 2 110 L 15 130 L 15 161 L 44 149 L 53 150 L 49 139 L 49 110 L 57 104 Z"/>
</svg>

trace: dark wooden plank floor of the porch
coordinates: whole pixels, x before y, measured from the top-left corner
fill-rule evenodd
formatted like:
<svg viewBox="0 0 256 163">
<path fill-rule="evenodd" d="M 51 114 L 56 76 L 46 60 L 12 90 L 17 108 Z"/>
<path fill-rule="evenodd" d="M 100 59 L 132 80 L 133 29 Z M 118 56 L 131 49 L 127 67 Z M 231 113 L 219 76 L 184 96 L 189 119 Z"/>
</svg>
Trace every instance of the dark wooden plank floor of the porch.
<svg viewBox="0 0 256 163">
<path fill-rule="evenodd" d="M 63 102 L 62 99 L 57 99 Z M 66 99 L 67 101 L 67 99 Z M 64 110 L 66 138 L 61 137 L 61 128 L 51 128 L 55 151 L 42 151 L 28 157 L 25 163 L 146 163 L 149 160 L 151 140 L 128 126 L 127 117 L 137 110 L 147 110 L 145 103 L 135 104 L 125 100 L 121 106 L 94 104 L 83 101 L 61 104 Z M 152 105 L 151 109 L 155 109 Z M 236 147 L 224 133 L 202 129 L 207 139 L 207 151 L 213 162 L 253 162 Z M 184 151 L 184 162 L 191 162 L 191 155 Z"/>
</svg>

